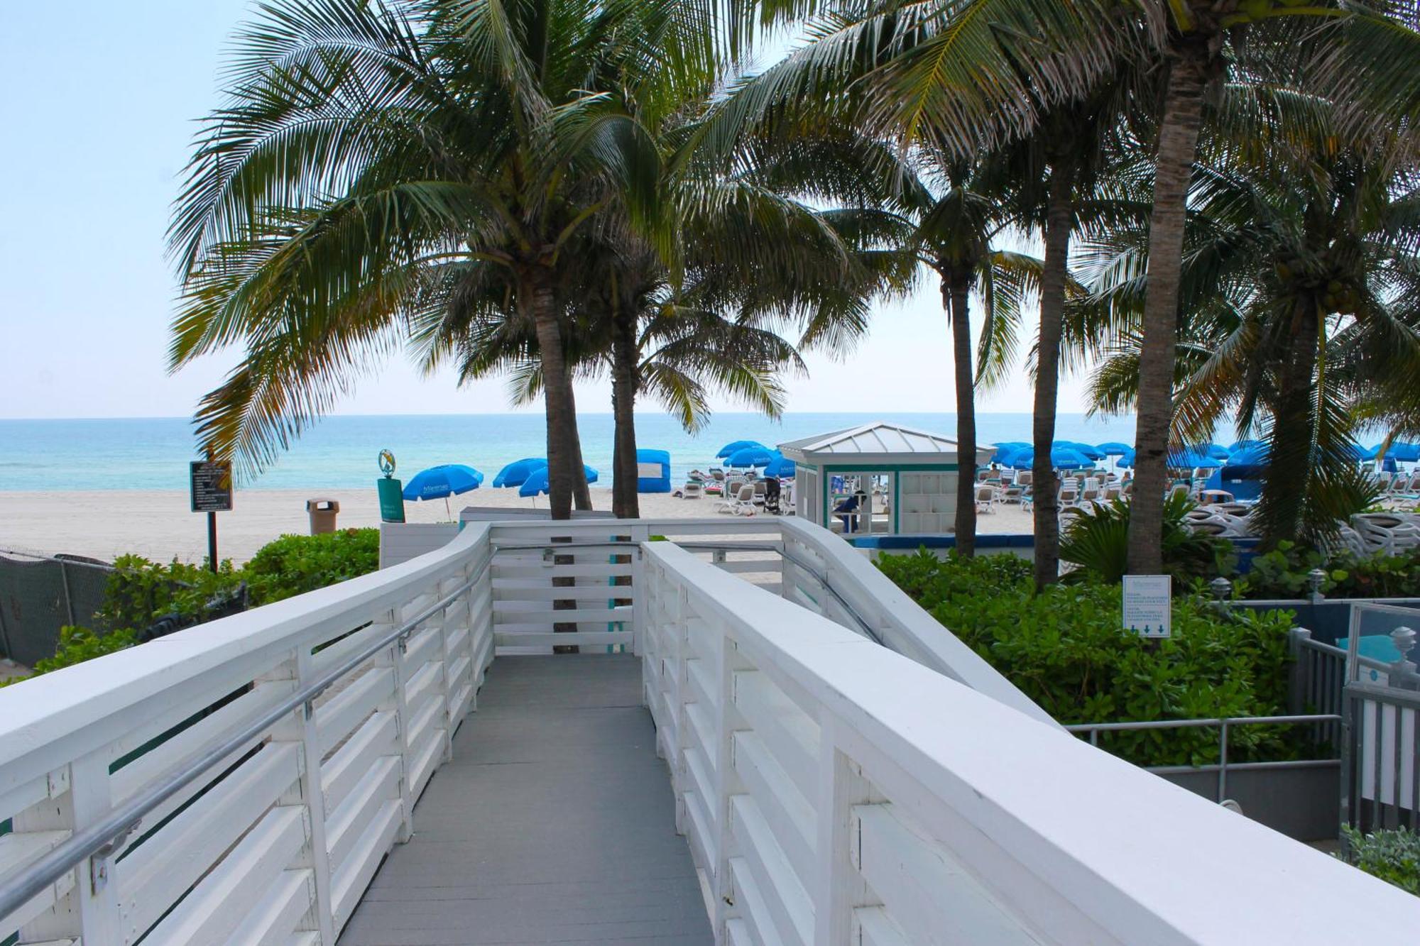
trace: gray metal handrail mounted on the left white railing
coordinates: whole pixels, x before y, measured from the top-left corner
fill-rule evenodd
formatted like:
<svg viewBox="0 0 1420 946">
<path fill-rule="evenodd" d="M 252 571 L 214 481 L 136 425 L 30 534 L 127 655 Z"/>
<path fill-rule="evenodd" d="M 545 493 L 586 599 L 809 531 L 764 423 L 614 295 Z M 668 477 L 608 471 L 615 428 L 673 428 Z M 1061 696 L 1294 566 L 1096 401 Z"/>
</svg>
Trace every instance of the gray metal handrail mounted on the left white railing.
<svg viewBox="0 0 1420 946">
<path fill-rule="evenodd" d="M 488 561 L 491 561 L 491 557 Z M 102 821 L 70 835 L 67 841 L 51 848 L 31 865 L 21 868 L 18 876 L 0 884 L 0 916 L 9 916 L 14 910 L 24 906 L 30 902 L 30 899 L 43 893 L 45 888 L 82 864 L 87 858 L 102 855 L 106 859 L 109 855 L 116 852 L 118 845 L 122 844 L 124 838 L 126 838 L 139 825 L 143 815 L 193 783 L 199 776 L 224 760 L 227 756 L 240 750 L 253 739 L 264 734 L 291 712 L 302 706 L 310 706 L 315 697 L 338 683 L 341 678 L 356 669 L 361 663 L 375 656 L 390 643 L 395 643 L 400 638 L 412 634 L 415 628 L 439 611 L 450 607 L 459 599 L 460 595 L 467 592 L 479 582 L 480 578 L 483 578 L 488 568 L 488 561 L 484 561 L 479 572 L 469 578 L 469 581 L 459 585 L 459 588 L 429 605 L 409 621 L 405 621 L 395 629 L 389 631 L 381 636 L 379 641 L 371 643 L 335 669 L 327 672 L 321 678 L 317 678 L 317 680 L 305 689 L 288 696 L 274 709 L 246 726 L 241 732 L 229 737 L 217 747 L 207 750 L 186 767 L 169 776 L 166 781 L 153 785 L 129 801 L 125 807 L 109 812 L 109 815 Z M 97 871 L 91 868 L 91 882 L 101 885 L 102 872 L 102 866 Z"/>
</svg>

